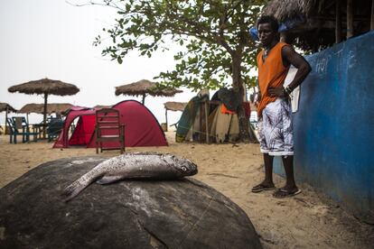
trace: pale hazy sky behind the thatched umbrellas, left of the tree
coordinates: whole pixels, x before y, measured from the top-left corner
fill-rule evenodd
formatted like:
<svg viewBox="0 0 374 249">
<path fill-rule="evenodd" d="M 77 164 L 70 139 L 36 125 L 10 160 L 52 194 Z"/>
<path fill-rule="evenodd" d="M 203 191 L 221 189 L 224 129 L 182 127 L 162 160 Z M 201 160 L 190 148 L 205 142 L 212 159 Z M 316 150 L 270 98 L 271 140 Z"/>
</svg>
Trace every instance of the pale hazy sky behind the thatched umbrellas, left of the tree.
<svg viewBox="0 0 374 249">
<path fill-rule="evenodd" d="M 74 96 L 51 95 L 48 103 L 91 107 L 126 99 L 141 101 L 141 97 L 116 96 L 115 87 L 152 80 L 160 72 L 173 69 L 177 47 L 157 52 L 150 59 L 132 51 L 121 65 L 102 57 L 104 46 L 94 47 L 92 42 L 98 34 L 106 37 L 102 29 L 114 24 L 116 18 L 116 10 L 106 6 L 77 7 L 65 0 L 0 0 L 0 102 L 16 109 L 43 103 L 41 95 L 7 90 L 41 78 L 58 79 L 80 89 Z M 164 123 L 165 102 L 188 102 L 196 95 L 189 89 L 182 90 L 174 97 L 145 97 L 145 106 L 159 123 Z M 176 123 L 181 114 L 169 111 L 168 123 Z M 31 124 L 39 123 L 42 115 L 32 114 L 29 119 Z M 0 124 L 5 124 L 5 112 L 0 113 Z"/>
</svg>

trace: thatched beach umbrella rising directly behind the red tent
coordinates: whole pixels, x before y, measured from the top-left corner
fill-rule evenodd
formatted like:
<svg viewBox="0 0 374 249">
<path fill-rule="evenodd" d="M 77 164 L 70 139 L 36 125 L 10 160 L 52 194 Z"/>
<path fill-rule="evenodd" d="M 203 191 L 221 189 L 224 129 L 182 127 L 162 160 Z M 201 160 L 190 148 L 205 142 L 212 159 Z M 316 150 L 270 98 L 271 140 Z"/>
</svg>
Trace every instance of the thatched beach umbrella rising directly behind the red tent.
<svg viewBox="0 0 374 249">
<path fill-rule="evenodd" d="M 136 97 L 142 96 L 143 105 L 145 105 L 145 97 L 147 95 L 153 97 L 173 97 L 177 93 L 182 93 L 182 90 L 175 88 L 164 88 L 163 86 L 147 79 L 142 79 L 131 84 L 116 87 L 116 96 L 121 94 Z"/>
</svg>

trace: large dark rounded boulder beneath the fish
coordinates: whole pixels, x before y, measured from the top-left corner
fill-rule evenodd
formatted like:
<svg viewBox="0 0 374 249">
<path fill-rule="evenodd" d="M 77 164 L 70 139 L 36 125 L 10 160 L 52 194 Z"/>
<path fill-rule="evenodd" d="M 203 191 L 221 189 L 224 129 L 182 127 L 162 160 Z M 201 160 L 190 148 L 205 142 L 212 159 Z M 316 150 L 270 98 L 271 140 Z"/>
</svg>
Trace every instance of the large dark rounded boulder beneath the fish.
<svg viewBox="0 0 374 249">
<path fill-rule="evenodd" d="M 62 190 L 99 157 L 50 161 L 0 189 L 0 248 L 261 248 L 244 211 L 198 180 Z"/>
</svg>

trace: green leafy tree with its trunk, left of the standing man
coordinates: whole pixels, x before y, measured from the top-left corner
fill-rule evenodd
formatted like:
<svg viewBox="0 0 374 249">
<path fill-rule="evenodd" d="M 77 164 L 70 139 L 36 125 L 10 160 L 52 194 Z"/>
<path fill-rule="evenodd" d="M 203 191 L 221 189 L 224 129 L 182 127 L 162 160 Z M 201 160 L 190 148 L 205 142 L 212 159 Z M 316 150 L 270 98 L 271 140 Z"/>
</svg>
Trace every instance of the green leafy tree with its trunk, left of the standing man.
<svg viewBox="0 0 374 249">
<path fill-rule="evenodd" d="M 243 83 L 256 84 L 249 69 L 256 65 L 257 46 L 248 28 L 255 25 L 265 0 L 103 0 L 94 5 L 117 8 L 119 18 L 104 29 L 112 44 L 102 51 L 122 63 L 129 51 L 138 50 L 148 57 L 167 50 L 167 42 L 178 42 L 184 49 L 174 59 L 175 69 L 157 78 L 170 87 L 216 89 L 231 86 L 238 97 L 244 96 Z M 100 35 L 94 44 L 102 42 Z M 248 119 L 238 107 L 240 138 L 248 141 Z"/>
</svg>

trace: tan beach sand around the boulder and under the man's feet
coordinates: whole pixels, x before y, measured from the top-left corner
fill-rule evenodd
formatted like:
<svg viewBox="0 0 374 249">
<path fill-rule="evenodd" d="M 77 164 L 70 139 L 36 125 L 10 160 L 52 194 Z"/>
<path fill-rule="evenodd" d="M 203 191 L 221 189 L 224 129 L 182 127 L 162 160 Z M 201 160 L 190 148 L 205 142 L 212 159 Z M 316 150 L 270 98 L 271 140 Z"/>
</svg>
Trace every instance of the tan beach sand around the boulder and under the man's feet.
<svg viewBox="0 0 374 249">
<path fill-rule="evenodd" d="M 174 143 L 173 132 L 166 136 L 170 146 L 126 148 L 126 152 L 170 152 L 196 162 L 199 173 L 194 178 L 237 203 L 256 227 L 264 248 L 372 248 L 374 226 L 361 223 L 306 184 L 299 184 L 303 192 L 294 198 L 276 199 L 272 191 L 251 193 L 264 174 L 258 144 Z M 42 162 L 96 155 L 95 149 L 51 147 L 46 141 L 11 144 L 9 136 L 1 135 L 0 188 Z M 275 182 L 282 187 L 284 179 L 275 175 Z"/>
</svg>

